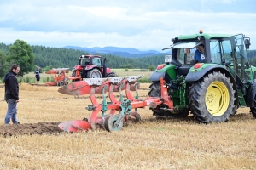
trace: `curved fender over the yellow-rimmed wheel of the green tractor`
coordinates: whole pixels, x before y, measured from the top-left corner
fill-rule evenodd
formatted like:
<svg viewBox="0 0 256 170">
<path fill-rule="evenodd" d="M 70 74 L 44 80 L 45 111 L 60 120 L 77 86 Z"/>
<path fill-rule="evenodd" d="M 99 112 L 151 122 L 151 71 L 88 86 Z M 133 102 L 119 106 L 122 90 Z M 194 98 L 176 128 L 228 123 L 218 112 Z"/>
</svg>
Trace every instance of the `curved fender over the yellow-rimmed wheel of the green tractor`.
<svg viewBox="0 0 256 170">
<path fill-rule="evenodd" d="M 195 82 L 200 80 L 203 76 L 205 76 L 209 71 L 220 71 L 226 75 L 226 77 L 230 78 L 230 82 L 233 84 L 233 89 L 235 90 L 235 105 L 239 105 L 239 100 L 238 100 L 238 93 L 237 93 L 237 88 L 236 88 L 236 81 L 233 75 L 231 75 L 230 71 L 225 69 L 221 65 L 208 65 L 201 71 L 192 71 L 195 70 L 193 67 L 190 69 L 189 74 L 187 75 L 185 81 L 186 82 Z"/>
</svg>

